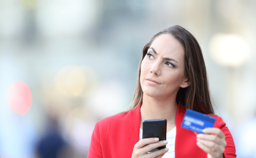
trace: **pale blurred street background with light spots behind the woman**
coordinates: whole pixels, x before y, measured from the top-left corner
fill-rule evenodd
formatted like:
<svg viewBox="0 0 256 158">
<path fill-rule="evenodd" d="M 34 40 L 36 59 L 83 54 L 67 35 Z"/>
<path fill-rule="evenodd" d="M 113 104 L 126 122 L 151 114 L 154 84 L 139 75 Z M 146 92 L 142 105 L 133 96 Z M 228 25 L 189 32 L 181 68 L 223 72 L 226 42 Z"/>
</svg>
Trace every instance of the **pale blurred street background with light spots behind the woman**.
<svg viewBox="0 0 256 158">
<path fill-rule="evenodd" d="M 237 157 L 256 158 L 255 19 L 255 0 L 0 0 L 0 157 L 87 157 L 96 121 L 132 101 L 143 46 L 180 25 Z"/>
</svg>

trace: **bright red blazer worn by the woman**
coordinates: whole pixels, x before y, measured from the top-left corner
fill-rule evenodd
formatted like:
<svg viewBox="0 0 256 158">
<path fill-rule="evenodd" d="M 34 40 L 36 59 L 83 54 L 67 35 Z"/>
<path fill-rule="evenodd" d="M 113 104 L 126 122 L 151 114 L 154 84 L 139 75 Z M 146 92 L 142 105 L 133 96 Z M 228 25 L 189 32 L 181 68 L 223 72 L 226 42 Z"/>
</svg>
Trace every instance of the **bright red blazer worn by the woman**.
<svg viewBox="0 0 256 158">
<path fill-rule="evenodd" d="M 196 134 L 181 126 L 186 108 L 178 105 L 176 114 L 175 158 L 206 158 L 207 153 L 196 145 Z M 235 158 L 236 149 L 231 133 L 220 117 L 214 127 L 223 131 L 227 145 L 225 158 Z M 88 158 L 131 158 L 133 147 L 139 141 L 140 106 L 98 121 L 91 136 Z"/>
</svg>

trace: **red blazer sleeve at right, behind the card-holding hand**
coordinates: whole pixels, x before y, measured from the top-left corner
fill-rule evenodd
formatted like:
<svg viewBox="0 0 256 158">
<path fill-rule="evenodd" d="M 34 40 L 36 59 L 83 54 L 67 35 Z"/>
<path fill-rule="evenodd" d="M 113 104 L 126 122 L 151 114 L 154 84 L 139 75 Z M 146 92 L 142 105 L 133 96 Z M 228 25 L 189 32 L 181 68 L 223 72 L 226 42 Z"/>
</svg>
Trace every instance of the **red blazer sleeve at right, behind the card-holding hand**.
<svg viewBox="0 0 256 158">
<path fill-rule="evenodd" d="M 223 157 L 224 158 L 236 158 L 235 143 L 234 143 L 233 137 L 232 137 L 228 127 L 226 127 L 226 123 L 224 123 L 224 121 L 220 117 L 217 117 L 216 121 L 215 121 L 215 127 L 222 130 L 222 132 L 224 133 L 224 135 L 226 137 L 225 140 L 226 140 L 227 145 L 225 147 Z"/>
</svg>

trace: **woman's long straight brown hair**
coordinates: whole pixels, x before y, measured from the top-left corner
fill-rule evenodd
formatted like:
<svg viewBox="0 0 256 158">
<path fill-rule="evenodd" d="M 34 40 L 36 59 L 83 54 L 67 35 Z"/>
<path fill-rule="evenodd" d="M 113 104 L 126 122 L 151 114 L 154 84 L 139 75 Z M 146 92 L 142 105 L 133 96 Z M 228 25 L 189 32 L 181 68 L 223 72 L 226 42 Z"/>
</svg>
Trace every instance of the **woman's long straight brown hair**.
<svg viewBox="0 0 256 158">
<path fill-rule="evenodd" d="M 142 59 L 138 69 L 135 94 L 129 110 L 132 110 L 142 103 L 143 92 L 140 85 L 141 62 L 147 54 L 148 48 L 151 46 L 152 42 L 161 34 L 171 34 L 181 43 L 185 52 L 184 73 L 188 82 L 190 82 L 190 86 L 179 89 L 176 97 L 177 104 L 179 103 L 180 105 L 185 106 L 186 109 L 188 108 L 205 114 L 213 114 L 214 112 L 211 104 L 206 68 L 201 48 L 190 32 L 177 25 L 168 27 L 156 33 L 144 46 Z"/>
</svg>

